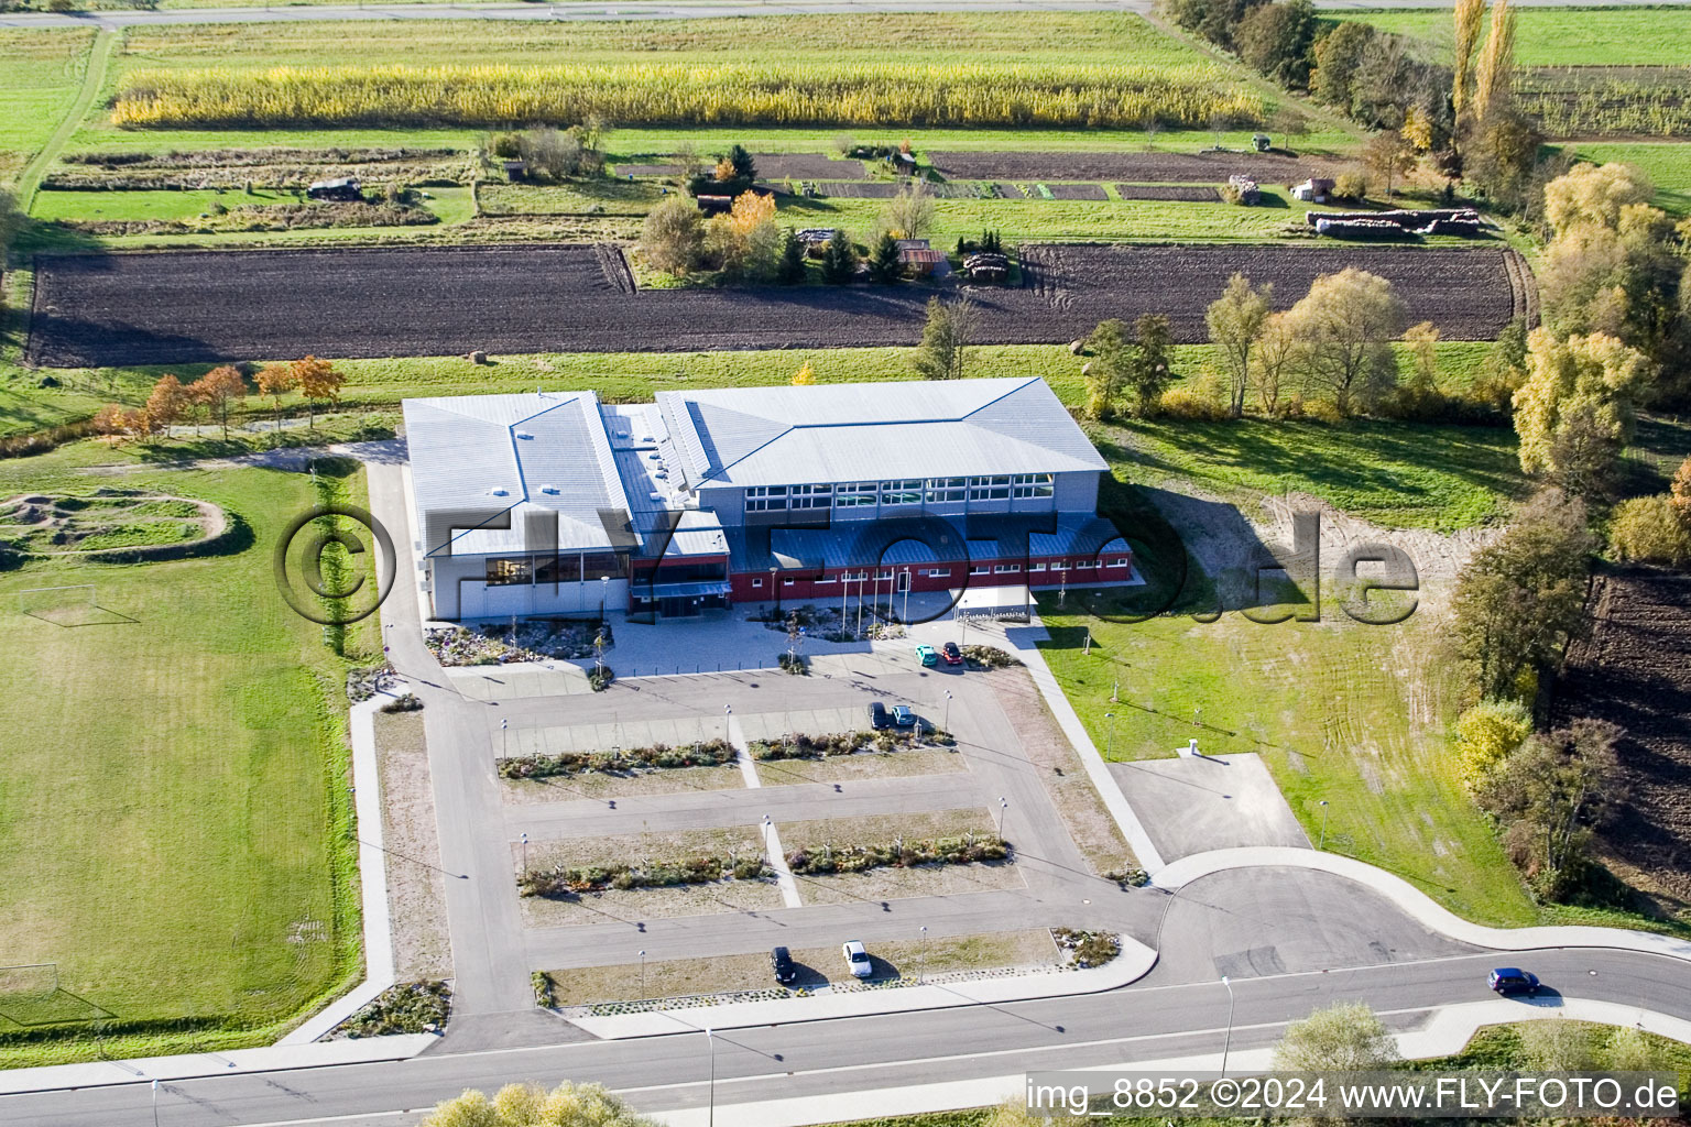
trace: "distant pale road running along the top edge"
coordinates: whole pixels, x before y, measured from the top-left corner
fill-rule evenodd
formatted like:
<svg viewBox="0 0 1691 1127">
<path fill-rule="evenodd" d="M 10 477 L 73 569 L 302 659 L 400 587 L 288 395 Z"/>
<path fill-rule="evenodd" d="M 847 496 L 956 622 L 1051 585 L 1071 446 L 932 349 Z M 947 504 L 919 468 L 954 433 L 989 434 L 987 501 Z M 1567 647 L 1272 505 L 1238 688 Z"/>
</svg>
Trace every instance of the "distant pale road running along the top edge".
<svg viewBox="0 0 1691 1127">
<path fill-rule="evenodd" d="M 1603 0 L 1606 7 L 1659 7 L 1662 0 Z M 1515 0 L 1517 7 L 1579 7 L 1590 0 Z M 1691 0 L 1667 0 L 1691 3 Z M 697 20 L 729 15 L 829 15 L 861 12 L 1150 12 L 1153 0 L 783 0 L 768 3 L 299 3 L 254 8 L 139 12 L 12 12 L 0 27 L 149 27 L 169 24 L 287 24 L 309 20 Z M 1316 0 L 1317 8 L 1447 8 L 1449 0 Z"/>
</svg>

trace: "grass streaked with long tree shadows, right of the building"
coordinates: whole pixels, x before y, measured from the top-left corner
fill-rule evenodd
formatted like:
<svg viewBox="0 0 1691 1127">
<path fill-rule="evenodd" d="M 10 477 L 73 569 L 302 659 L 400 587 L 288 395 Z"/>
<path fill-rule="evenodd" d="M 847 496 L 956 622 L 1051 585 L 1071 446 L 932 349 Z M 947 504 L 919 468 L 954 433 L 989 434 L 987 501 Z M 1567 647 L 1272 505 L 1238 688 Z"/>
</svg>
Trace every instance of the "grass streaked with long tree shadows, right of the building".
<svg viewBox="0 0 1691 1127">
<path fill-rule="evenodd" d="M 1196 490 L 1246 512 L 1263 495 L 1297 492 L 1380 525 L 1449 532 L 1500 515 L 1527 490 L 1510 427 L 1135 421 L 1094 441 L 1123 482 Z"/>
</svg>

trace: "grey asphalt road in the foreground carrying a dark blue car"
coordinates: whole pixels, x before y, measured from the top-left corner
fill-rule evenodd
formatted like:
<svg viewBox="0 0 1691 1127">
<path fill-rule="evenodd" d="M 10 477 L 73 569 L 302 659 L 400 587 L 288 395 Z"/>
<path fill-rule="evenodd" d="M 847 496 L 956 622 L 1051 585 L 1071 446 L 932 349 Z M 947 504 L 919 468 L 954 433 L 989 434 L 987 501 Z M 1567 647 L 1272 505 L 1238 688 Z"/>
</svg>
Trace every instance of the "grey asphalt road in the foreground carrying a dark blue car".
<svg viewBox="0 0 1691 1127">
<path fill-rule="evenodd" d="M 1344 999 L 1365 999 L 1388 1024 L 1410 1027 L 1439 1005 L 1490 997 L 1483 977 L 1497 961 L 1480 953 L 1243 980 L 1234 983 L 1231 1044 L 1272 1044 L 1287 1021 Z M 1691 1017 L 1691 975 L 1683 961 L 1571 950 L 1517 953 L 1508 961 L 1534 968 L 1568 997 Z M 1086 997 L 731 1031 L 717 1037 L 715 1100 L 725 1105 L 839 1095 L 840 1115 L 849 1117 L 849 1093 L 857 1090 L 1218 1053 L 1228 1021 L 1226 990 L 1216 982 L 1153 983 L 1155 972 L 1145 985 Z M 1551 995 L 1535 1004 L 1556 1002 Z M 700 1032 L 424 1054 L 401 1063 L 162 1085 L 159 1124 L 409 1124 L 414 1115 L 401 1112 L 426 1110 L 463 1088 L 563 1078 L 602 1081 L 627 1093 L 636 1107 L 656 1112 L 702 1105 L 709 1068 Z M 0 1122 L 150 1127 L 152 1092 L 135 1083 L 0 1098 Z"/>
</svg>

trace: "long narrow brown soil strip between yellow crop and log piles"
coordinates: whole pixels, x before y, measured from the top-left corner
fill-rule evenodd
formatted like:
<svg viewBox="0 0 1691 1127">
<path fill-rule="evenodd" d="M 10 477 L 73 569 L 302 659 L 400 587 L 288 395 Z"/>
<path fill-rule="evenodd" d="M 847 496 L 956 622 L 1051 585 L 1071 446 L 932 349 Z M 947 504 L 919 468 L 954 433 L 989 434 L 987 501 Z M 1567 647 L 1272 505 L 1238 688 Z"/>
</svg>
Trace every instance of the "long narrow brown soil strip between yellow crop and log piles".
<svg viewBox="0 0 1691 1127">
<path fill-rule="evenodd" d="M 1224 182 L 1245 172 L 1263 184 L 1295 184 L 1329 164 L 1283 152 L 930 152 L 933 167 L 969 181 Z M 763 166 L 758 166 L 759 171 Z"/>
</svg>

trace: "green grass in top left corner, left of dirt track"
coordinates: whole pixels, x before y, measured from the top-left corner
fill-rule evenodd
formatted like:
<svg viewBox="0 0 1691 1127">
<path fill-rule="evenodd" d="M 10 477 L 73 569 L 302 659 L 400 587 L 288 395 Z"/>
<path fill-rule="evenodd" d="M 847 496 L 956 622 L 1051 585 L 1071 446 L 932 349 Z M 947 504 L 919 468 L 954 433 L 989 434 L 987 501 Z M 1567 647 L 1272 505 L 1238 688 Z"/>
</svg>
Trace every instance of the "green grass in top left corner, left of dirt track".
<svg viewBox="0 0 1691 1127">
<path fill-rule="evenodd" d="M 0 184 L 47 144 L 81 90 L 93 30 L 0 30 Z"/>
</svg>

